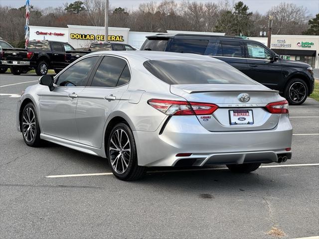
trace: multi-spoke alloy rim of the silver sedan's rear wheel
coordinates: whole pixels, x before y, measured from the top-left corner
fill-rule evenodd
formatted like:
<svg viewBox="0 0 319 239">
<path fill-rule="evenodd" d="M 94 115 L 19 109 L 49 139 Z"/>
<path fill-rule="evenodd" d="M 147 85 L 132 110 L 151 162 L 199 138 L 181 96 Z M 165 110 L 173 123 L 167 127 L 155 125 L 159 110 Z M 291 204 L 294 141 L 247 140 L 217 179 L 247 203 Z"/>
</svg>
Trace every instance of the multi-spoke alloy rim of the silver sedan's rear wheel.
<svg viewBox="0 0 319 239">
<path fill-rule="evenodd" d="M 131 144 L 128 134 L 121 128 L 116 129 L 110 140 L 110 161 L 114 171 L 123 174 L 129 166 Z"/>
</svg>

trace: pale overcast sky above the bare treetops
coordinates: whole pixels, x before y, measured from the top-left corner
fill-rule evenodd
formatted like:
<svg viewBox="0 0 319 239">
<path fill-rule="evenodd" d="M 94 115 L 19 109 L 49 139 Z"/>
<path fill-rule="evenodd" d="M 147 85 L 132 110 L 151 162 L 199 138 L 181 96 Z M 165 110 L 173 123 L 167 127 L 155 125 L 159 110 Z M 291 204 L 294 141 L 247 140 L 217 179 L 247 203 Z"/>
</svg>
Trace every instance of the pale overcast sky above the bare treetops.
<svg viewBox="0 0 319 239">
<path fill-rule="evenodd" d="M 48 6 L 61 6 L 65 2 L 74 2 L 75 0 L 30 0 L 30 4 L 37 6 L 39 8 L 45 8 Z M 127 9 L 137 8 L 140 3 L 149 2 L 151 0 L 110 0 L 112 7 L 124 7 Z M 161 0 L 153 0 L 160 2 Z M 180 1 L 180 0 L 175 0 Z M 218 2 L 218 0 L 196 0 L 201 2 L 212 1 Z M 232 2 L 233 0 L 229 0 Z M 237 0 L 236 0 L 237 1 Z M 279 4 L 282 0 L 242 0 L 245 4 L 249 6 L 251 11 L 259 11 L 260 13 L 265 13 L 272 6 Z M 303 5 L 308 8 L 309 13 L 315 16 L 319 13 L 319 0 L 283 0 L 289 3 L 295 3 L 299 6 Z M 12 6 L 20 7 L 24 5 L 25 0 L 0 0 L 0 5 L 2 6 Z"/>
</svg>

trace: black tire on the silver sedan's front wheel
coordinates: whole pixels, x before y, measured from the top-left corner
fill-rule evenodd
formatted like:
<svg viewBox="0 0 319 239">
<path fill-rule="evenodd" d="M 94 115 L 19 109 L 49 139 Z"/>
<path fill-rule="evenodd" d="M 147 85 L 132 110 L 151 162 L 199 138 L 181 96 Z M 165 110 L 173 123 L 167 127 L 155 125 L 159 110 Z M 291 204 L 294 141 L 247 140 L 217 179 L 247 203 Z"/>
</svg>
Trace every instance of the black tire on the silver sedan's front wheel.
<svg viewBox="0 0 319 239">
<path fill-rule="evenodd" d="M 30 111 L 31 110 L 31 111 Z M 28 112 L 30 112 L 30 117 L 28 118 Z M 34 116 L 34 120 L 33 120 L 33 116 Z M 27 121 L 29 121 L 30 123 L 26 123 Z M 34 122 L 34 123 L 33 123 Z M 39 122 L 38 122 L 38 118 L 37 118 L 37 114 L 35 111 L 35 107 L 32 103 L 28 103 L 26 104 L 26 106 L 24 107 L 21 117 L 20 117 L 20 128 L 22 131 L 22 137 L 24 142 L 31 147 L 38 147 L 42 145 L 42 140 L 40 139 L 40 127 L 39 127 Z M 29 129 L 29 133 L 27 132 L 27 128 Z M 32 136 L 32 130 L 34 130 L 33 132 L 33 136 Z"/>
</svg>

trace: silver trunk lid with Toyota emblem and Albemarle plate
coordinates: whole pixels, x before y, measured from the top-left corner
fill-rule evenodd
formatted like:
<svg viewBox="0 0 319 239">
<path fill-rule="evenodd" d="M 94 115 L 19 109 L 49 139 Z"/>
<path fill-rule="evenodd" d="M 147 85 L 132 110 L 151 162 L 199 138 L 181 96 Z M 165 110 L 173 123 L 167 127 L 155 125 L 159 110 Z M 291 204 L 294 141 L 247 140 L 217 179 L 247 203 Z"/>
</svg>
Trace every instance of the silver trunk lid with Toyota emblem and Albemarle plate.
<svg viewBox="0 0 319 239">
<path fill-rule="evenodd" d="M 269 113 L 266 105 L 284 100 L 277 91 L 263 85 L 181 84 L 171 85 L 170 92 L 188 102 L 217 105 L 212 115 L 196 116 L 209 131 L 272 129 L 281 114 Z"/>
</svg>

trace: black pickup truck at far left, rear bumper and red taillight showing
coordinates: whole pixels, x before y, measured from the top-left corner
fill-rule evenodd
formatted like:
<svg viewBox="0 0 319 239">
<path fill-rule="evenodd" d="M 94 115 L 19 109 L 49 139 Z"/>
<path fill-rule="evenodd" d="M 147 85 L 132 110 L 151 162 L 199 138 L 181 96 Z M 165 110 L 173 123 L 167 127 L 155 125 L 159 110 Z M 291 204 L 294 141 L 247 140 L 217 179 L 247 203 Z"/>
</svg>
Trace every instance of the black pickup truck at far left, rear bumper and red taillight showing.
<svg viewBox="0 0 319 239">
<path fill-rule="evenodd" d="M 70 57 L 71 54 L 77 53 L 66 42 L 32 40 L 27 49 L 3 49 L 1 64 L 10 67 L 11 73 L 14 75 L 34 69 L 38 76 L 42 76 L 47 74 L 48 69 L 53 69 L 56 73 L 60 72 L 73 61 Z"/>
</svg>

